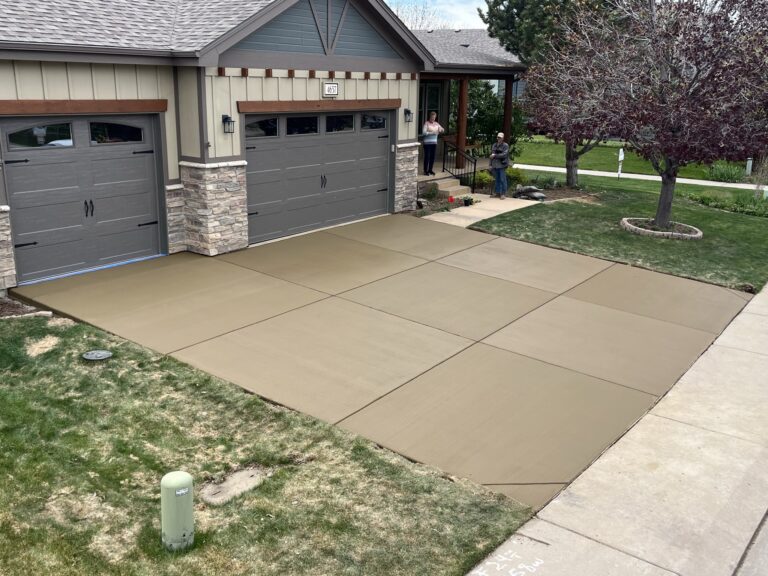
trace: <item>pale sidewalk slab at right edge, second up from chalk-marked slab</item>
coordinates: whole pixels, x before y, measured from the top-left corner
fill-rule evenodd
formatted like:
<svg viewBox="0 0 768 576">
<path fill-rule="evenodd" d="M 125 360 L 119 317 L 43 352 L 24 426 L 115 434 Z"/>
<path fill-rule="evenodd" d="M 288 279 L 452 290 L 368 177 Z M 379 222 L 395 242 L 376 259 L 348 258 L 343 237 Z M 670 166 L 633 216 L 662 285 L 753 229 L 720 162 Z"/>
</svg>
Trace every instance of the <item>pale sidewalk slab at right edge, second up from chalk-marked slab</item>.
<svg viewBox="0 0 768 576">
<path fill-rule="evenodd" d="M 715 345 L 652 412 L 768 446 L 766 374 L 768 356 Z"/>
</svg>

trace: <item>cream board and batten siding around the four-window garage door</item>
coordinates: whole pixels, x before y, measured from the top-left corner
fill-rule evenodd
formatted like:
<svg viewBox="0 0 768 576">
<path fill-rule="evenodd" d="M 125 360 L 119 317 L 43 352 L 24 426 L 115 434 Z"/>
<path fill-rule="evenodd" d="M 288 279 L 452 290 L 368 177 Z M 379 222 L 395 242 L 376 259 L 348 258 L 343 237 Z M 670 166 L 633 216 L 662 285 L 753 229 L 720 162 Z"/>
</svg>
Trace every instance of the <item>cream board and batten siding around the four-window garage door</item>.
<svg viewBox="0 0 768 576">
<path fill-rule="evenodd" d="M 341 77 L 340 77 L 341 76 Z M 352 72 L 352 78 L 344 78 L 344 72 L 336 72 L 332 82 L 338 82 L 339 95 L 334 100 L 378 100 L 400 98 L 401 107 L 397 111 L 398 140 L 412 141 L 417 137 L 416 122 L 406 123 L 403 109 L 410 108 L 414 115 L 418 110 L 419 81 L 416 74 L 405 74 L 408 79 L 397 80 L 395 73 L 388 73 L 382 79 L 379 72 L 371 73 L 373 78 L 366 80 L 363 72 Z M 263 69 L 250 69 L 248 77 L 241 75 L 240 68 L 226 68 L 225 75 L 219 76 L 217 68 L 207 68 L 205 92 L 208 113 L 208 137 L 211 158 L 241 157 L 240 123 L 243 117 L 238 113 L 238 101 L 264 102 L 307 102 L 328 100 L 322 98 L 322 84 L 329 81 L 327 71 L 317 71 L 315 78 L 309 77 L 308 70 L 296 70 L 294 77 L 288 77 L 288 70 L 273 70 L 267 78 Z M 181 88 L 179 88 L 181 93 Z M 238 124 L 234 134 L 225 134 L 221 116 L 228 114 Z M 183 122 L 182 122 L 183 125 Z M 183 138 L 182 138 L 183 140 Z"/>
</svg>

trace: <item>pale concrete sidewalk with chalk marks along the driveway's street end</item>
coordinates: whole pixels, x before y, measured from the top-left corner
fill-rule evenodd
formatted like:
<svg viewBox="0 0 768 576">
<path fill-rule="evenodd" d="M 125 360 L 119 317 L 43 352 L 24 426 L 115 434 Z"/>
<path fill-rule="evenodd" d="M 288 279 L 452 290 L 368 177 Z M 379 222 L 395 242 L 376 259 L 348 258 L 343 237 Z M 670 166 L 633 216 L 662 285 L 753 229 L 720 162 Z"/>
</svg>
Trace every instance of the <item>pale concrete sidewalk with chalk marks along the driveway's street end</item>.
<svg viewBox="0 0 768 576">
<path fill-rule="evenodd" d="M 471 576 L 768 574 L 768 287 Z"/>
</svg>

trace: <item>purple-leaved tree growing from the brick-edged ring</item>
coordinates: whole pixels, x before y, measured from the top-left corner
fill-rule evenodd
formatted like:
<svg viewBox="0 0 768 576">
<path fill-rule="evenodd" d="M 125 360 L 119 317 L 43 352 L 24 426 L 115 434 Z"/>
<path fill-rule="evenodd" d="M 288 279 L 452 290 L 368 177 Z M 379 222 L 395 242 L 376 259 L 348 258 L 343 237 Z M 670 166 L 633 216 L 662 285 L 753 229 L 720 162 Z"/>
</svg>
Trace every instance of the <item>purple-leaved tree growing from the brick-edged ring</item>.
<svg viewBox="0 0 768 576">
<path fill-rule="evenodd" d="M 614 135 L 661 176 L 657 226 L 670 225 L 682 166 L 768 145 L 765 0 L 612 0 L 609 11 L 579 9 L 564 33 L 563 81 L 577 94 L 591 86 Z"/>
</svg>

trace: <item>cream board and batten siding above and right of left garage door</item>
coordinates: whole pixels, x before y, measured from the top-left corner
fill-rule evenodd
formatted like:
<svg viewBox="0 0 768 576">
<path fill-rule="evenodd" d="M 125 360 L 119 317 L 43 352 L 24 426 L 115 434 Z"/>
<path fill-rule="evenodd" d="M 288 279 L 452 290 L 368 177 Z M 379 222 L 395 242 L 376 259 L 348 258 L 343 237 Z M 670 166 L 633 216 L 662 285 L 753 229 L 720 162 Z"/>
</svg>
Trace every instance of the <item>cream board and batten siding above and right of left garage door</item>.
<svg viewBox="0 0 768 576">
<path fill-rule="evenodd" d="M 168 100 L 168 178 L 179 177 L 173 68 L 129 64 L 0 60 L 0 100 Z"/>
</svg>

